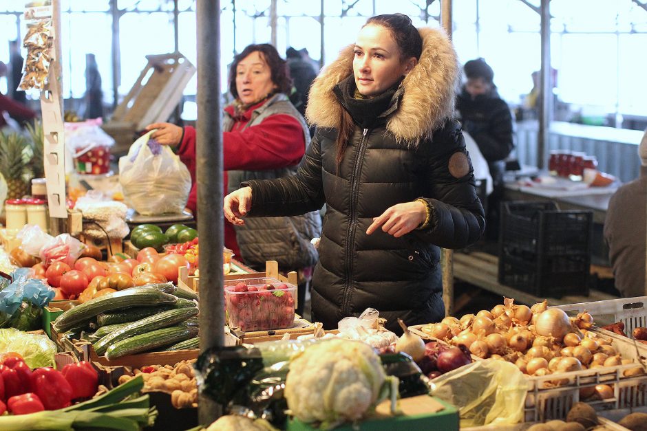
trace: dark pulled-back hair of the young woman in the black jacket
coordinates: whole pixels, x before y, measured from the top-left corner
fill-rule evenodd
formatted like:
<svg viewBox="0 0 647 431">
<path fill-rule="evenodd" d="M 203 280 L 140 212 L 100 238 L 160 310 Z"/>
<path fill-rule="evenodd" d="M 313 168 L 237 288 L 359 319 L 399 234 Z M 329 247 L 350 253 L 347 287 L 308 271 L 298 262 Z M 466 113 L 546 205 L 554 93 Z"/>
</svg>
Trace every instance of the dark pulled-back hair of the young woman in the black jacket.
<svg viewBox="0 0 647 431">
<path fill-rule="evenodd" d="M 376 15 L 366 21 L 363 27 L 367 25 L 381 25 L 391 32 L 396 44 L 400 49 L 400 61 L 403 62 L 409 58 L 415 57 L 420 60 L 423 52 L 423 38 L 421 38 L 418 29 L 414 27 L 409 16 L 405 14 L 385 14 Z M 341 110 L 339 119 L 339 129 L 337 130 L 337 168 L 341 164 L 343 153 L 346 151 L 348 140 L 352 134 L 352 118 L 346 110 Z"/>
</svg>

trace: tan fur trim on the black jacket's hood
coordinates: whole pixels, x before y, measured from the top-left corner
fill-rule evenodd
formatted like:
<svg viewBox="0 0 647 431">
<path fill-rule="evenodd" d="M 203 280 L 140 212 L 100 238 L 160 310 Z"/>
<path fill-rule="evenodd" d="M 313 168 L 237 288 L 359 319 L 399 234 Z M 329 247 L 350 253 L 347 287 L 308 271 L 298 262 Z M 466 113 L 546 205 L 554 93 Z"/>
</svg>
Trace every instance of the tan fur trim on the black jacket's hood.
<svg viewBox="0 0 647 431">
<path fill-rule="evenodd" d="M 402 81 L 400 106 L 388 119 L 386 129 L 398 142 L 430 137 L 434 130 L 454 116 L 454 100 L 460 76 L 458 58 L 443 30 L 418 29 L 423 52 L 418 64 Z M 354 44 L 341 50 L 339 57 L 317 76 L 310 88 L 306 118 L 314 126 L 336 129 L 341 104 L 332 89 L 352 74 Z"/>
</svg>

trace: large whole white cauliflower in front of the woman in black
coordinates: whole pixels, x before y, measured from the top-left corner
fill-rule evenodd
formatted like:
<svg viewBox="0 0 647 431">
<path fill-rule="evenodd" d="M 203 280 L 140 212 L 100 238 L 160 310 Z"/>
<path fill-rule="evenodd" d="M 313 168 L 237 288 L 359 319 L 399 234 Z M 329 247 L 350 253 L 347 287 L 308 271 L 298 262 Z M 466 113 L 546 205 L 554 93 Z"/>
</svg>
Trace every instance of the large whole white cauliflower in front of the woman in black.
<svg viewBox="0 0 647 431">
<path fill-rule="evenodd" d="M 331 426 L 362 419 L 391 393 L 398 379 L 387 377 L 379 357 L 363 342 L 334 339 L 308 346 L 290 360 L 285 397 L 300 421 Z"/>
</svg>

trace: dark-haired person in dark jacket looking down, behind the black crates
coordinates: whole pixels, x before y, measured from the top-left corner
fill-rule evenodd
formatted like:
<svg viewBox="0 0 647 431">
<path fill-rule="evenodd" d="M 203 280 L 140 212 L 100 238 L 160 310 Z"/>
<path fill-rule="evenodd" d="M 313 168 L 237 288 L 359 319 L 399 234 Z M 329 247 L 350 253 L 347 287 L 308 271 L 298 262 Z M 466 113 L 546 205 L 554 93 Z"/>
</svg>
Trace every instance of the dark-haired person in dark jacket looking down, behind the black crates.
<svg viewBox="0 0 647 431">
<path fill-rule="evenodd" d="M 456 100 L 463 130 L 474 138 L 487 160 L 494 184 L 487 201 L 486 237 L 498 239 L 499 204 L 503 197 L 504 159 L 514 148 L 512 114 L 499 97 L 494 85 L 494 71 L 482 58 L 465 63 L 467 82 Z"/>
</svg>

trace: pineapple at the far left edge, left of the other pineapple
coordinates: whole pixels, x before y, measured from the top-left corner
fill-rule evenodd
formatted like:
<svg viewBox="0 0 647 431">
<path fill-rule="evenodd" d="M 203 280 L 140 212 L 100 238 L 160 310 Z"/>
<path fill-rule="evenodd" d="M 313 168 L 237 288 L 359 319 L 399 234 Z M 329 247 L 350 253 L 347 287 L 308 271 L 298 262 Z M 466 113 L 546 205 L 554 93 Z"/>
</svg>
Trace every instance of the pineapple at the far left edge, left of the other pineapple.
<svg viewBox="0 0 647 431">
<path fill-rule="evenodd" d="M 25 173 L 29 163 L 29 142 L 18 133 L 0 133 L 0 174 L 7 181 L 7 199 L 19 199 L 29 193 Z"/>
</svg>

